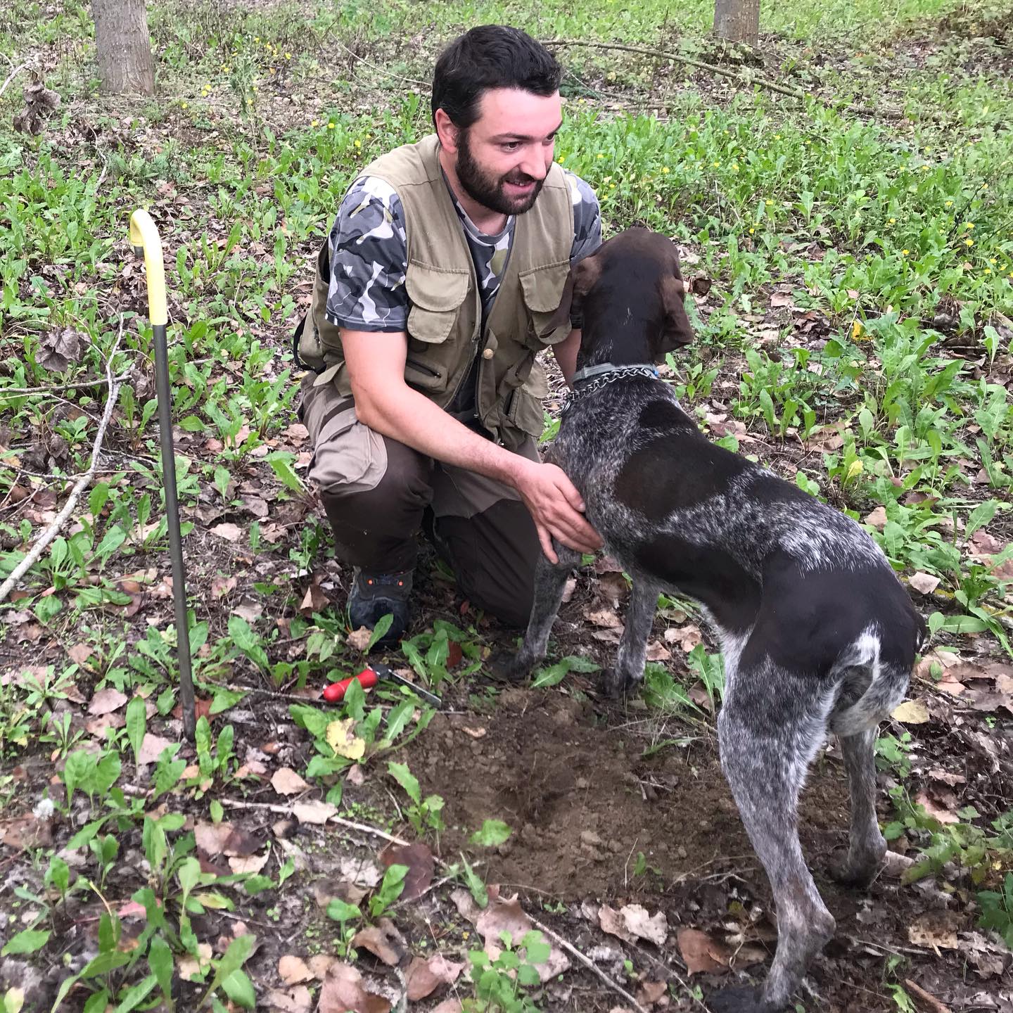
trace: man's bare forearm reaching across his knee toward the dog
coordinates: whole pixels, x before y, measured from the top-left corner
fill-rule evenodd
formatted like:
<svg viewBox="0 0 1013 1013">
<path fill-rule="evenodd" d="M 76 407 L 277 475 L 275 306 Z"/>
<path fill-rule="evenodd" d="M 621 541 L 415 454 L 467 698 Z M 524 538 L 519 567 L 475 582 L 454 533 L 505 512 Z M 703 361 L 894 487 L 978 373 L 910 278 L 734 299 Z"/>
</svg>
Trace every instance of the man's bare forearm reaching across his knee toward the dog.
<svg viewBox="0 0 1013 1013">
<path fill-rule="evenodd" d="M 521 469 L 530 464 L 520 454 L 472 432 L 410 387 L 399 386 L 379 396 L 360 392 L 356 405 L 360 420 L 377 433 L 444 464 L 476 471 L 506 485 L 516 487 Z"/>
</svg>

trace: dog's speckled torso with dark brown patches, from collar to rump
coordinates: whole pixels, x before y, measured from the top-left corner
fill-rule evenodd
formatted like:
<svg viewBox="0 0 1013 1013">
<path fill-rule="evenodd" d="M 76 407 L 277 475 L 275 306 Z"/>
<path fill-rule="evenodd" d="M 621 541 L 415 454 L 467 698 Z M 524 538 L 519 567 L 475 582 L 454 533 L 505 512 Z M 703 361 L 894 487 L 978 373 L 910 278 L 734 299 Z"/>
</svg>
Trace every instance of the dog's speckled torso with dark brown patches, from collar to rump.
<svg viewBox="0 0 1013 1013">
<path fill-rule="evenodd" d="M 922 621 L 875 542 L 708 441 L 667 384 L 630 378 L 577 400 L 551 453 L 624 567 L 704 606 L 726 665 L 762 651 L 836 682 L 859 643 L 872 665 L 875 641 L 875 665 L 903 673 L 889 696 L 903 695 Z"/>
</svg>

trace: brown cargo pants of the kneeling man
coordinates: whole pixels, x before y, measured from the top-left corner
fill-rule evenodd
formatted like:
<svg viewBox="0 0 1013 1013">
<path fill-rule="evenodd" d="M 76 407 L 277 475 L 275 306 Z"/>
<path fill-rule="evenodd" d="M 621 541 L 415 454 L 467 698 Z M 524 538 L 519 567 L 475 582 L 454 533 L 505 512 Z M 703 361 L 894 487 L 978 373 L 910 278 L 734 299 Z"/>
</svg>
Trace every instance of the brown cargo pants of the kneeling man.
<svg viewBox="0 0 1013 1013">
<path fill-rule="evenodd" d="M 466 598 L 511 626 L 526 626 L 541 547 L 518 493 L 381 436 L 359 421 L 350 397 L 333 384 L 314 387 L 314 379 L 303 380 L 299 418 L 309 430 L 309 477 L 338 558 L 373 573 L 410 570 L 421 531 Z M 534 440 L 520 453 L 539 459 Z"/>
</svg>

